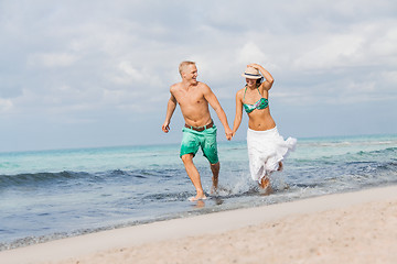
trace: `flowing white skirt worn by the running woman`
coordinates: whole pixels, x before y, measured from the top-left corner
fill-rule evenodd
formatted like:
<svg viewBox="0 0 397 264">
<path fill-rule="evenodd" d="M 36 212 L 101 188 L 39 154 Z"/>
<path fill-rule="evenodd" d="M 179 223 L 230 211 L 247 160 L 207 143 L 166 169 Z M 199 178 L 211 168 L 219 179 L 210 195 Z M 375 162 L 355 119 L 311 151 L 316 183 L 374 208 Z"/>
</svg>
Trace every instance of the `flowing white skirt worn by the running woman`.
<svg viewBox="0 0 397 264">
<path fill-rule="evenodd" d="M 296 145 L 297 139 L 288 138 L 285 141 L 277 127 L 266 131 L 248 129 L 247 147 L 251 178 L 260 182 L 262 177 L 277 170 L 279 162 L 287 157 Z"/>
</svg>

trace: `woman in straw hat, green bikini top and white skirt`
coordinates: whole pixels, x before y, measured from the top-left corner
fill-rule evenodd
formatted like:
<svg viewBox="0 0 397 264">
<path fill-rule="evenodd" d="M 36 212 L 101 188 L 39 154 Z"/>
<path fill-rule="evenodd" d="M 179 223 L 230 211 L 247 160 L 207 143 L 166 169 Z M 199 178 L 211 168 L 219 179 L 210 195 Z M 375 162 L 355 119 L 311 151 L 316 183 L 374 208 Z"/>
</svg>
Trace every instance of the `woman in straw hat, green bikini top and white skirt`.
<svg viewBox="0 0 397 264">
<path fill-rule="evenodd" d="M 244 108 L 249 118 L 247 147 L 250 175 L 261 188 L 268 189 L 270 174 L 282 169 L 282 160 L 294 150 L 297 140 L 288 138 L 285 141 L 270 116 L 269 90 L 275 81 L 270 73 L 258 64 L 249 64 L 242 76 L 247 85 L 236 94 L 233 135 L 242 123 Z"/>
</svg>

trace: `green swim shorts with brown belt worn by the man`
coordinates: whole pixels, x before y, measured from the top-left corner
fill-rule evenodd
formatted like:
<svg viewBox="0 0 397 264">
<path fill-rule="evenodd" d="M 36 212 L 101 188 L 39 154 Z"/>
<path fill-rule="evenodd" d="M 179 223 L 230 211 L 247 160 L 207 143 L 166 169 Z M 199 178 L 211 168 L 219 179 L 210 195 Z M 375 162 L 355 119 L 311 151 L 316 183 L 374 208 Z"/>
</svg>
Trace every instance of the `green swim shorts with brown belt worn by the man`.
<svg viewBox="0 0 397 264">
<path fill-rule="evenodd" d="M 211 164 L 218 163 L 219 160 L 217 155 L 216 131 L 217 129 L 215 124 L 211 129 L 206 129 L 201 132 L 183 128 L 180 157 L 185 154 L 193 154 L 193 156 L 195 156 L 198 147 L 201 146 L 203 155 Z"/>
</svg>

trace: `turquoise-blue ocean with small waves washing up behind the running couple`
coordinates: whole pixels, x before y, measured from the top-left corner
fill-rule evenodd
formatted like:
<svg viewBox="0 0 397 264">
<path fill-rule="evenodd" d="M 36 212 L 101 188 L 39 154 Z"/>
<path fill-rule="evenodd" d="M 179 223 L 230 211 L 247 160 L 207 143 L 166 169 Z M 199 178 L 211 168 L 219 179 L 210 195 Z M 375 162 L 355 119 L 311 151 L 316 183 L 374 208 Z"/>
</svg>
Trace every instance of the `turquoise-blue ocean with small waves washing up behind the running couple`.
<svg viewBox="0 0 397 264">
<path fill-rule="evenodd" d="M 101 230 L 397 184 L 397 134 L 298 139 L 272 174 L 250 179 L 246 142 L 221 142 L 219 193 L 195 195 L 179 144 L 0 153 L 0 250 Z M 208 194 L 212 174 L 194 158 Z"/>
</svg>

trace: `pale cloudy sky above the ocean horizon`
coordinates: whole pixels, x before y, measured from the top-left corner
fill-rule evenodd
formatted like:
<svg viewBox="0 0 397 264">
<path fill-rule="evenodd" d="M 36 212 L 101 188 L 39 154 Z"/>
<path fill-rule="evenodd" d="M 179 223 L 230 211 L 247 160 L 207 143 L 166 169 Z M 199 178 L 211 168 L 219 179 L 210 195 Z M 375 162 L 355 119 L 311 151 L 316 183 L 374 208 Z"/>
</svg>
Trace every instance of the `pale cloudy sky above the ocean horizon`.
<svg viewBox="0 0 397 264">
<path fill-rule="evenodd" d="M 0 0 L 0 152 L 179 143 L 186 59 L 230 125 L 258 63 L 285 138 L 397 133 L 397 1 Z"/>
</svg>

